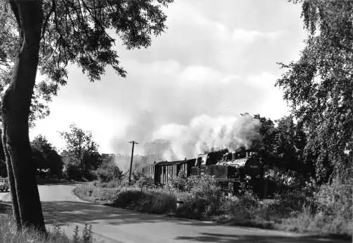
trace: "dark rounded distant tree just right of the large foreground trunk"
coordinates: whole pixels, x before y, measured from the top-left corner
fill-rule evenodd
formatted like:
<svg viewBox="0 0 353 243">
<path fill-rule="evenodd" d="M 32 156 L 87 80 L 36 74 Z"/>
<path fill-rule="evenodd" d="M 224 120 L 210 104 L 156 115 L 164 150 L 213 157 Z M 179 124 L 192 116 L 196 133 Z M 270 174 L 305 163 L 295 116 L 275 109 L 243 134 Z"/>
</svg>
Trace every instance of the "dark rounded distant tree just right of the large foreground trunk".
<svg viewBox="0 0 353 243">
<path fill-rule="evenodd" d="M 61 177 L 63 161 L 51 143 L 42 135 L 36 136 L 31 142 L 32 158 L 35 162 L 35 169 L 43 172 L 49 170 L 50 174 Z"/>
</svg>

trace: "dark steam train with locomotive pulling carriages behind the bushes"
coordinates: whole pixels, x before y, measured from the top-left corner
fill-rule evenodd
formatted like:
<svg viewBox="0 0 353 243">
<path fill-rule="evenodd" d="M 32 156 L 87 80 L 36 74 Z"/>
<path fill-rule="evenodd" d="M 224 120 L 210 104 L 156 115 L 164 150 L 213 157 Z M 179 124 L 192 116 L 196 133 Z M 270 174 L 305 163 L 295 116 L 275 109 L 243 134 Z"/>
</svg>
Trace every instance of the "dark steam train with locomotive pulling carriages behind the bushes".
<svg viewBox="0 0 353 243">
<path fill-rule="evenodd" d="M 160 161 L 145 165 L 143 176 L 151 184 L 163 186 L 183 171 L 186 177 L 207 174 L 213 176 L 217 184 L 232 194 L 246 189 L 261 193 L 263 185 L 263 162 L 253 151 L 229 153 L 220 150 L 199 154 L 196 158 Z"/>
</svg>

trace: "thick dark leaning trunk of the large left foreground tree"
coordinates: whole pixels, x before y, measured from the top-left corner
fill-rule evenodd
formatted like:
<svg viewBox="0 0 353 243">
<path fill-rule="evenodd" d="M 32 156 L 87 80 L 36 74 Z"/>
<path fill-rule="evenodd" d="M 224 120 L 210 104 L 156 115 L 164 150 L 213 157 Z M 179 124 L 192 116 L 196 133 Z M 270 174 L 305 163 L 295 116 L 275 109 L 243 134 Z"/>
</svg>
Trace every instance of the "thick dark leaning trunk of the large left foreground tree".
<svg viewBox="0 0 353 243">
<path fill-rule="evenodd" d="M 12 170 L 8 171 L 8 176 L 9 179 L 13 176 L 15 182 L 16 193 L 13 189 L 11 191 L 13 191 L 13 200 L 17 198 L 20 216 L 18 225 L 35 227 L 45 232 L 28 135 L 28 115 L 40 49 L 42 1 L 11 0 L 10 4 L 18 23 L 20 42 L 11 85 L 6 90 L 1 105 L 4 138 L 6 138 L 4 147 L 8 153 L 6 162 L 9 169 L 12 167 Z M 16 202 L 13 203 L 13 208 L 16 209 Z"/>
</svg>

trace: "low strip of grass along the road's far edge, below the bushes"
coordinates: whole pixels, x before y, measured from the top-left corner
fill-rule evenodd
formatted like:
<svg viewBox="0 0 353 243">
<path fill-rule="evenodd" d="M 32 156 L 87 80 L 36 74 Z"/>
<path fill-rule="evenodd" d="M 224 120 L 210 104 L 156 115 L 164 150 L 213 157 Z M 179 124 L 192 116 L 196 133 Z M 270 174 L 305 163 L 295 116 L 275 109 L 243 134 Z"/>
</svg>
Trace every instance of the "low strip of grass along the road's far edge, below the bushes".
<svg viewBox="0 0 353 243">
<path fill-rule="evenodd" d="M 352 237 L 352 220 L 337 215 L 315 214 L 302 195 L 287 194 L 260 200 L 243 196 L 197 195 L 167 189 L 106 184 L 83 184 L 74 193 L 85 200 L 145 213 L 175 215 L 181 218 L 213 220 L 227 225 L 261 227 L 294 232 L 315 232 L 321 236 Z M 177 207 L 177 201 L 182 201 Z"/>
</svg>

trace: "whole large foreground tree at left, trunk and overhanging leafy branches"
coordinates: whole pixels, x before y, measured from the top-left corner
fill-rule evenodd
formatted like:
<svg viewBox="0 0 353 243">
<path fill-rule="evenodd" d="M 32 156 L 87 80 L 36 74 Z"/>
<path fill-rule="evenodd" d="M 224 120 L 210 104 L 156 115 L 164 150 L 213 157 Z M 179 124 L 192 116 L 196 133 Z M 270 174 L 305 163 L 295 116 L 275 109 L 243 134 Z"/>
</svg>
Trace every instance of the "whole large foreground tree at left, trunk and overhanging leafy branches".
<svg viewBox="0 0 353 243">
<path fill-rule="evenodd" d="M 114 51 L 115 31 L 128 48 L 148 47 L 164 29 L 162 7 L 172 0 L 7 0 L 1 2 L 0 59 L 10 66 L 11 81 L 1 102 L 3 144 L 13 211 L 18 229 L 45 231 L 42 206 L 30 173 L 28 126 L 37 69 L 47 80 L 37 83 L 47 97 L 66 83 L 68 64 L 77 64 L 97 81 L 106 66 L 120 76 Z"/>
</svg>

